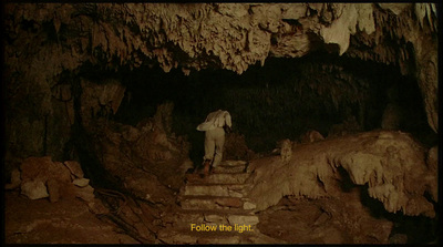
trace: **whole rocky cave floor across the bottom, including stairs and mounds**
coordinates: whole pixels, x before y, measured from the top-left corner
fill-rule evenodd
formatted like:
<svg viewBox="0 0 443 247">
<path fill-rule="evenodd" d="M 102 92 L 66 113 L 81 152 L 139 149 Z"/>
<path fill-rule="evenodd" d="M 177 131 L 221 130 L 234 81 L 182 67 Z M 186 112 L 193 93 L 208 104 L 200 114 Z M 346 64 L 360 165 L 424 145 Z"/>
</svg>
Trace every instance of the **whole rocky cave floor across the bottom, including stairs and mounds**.
<svg viewBox="0 0 443 247">
<path fill-rule="evenodd" d="M 396 132 L 295 143 L 292 148 L 290 145 L 291 141 L 287 141 L 277 153 L 249 162 L 224 161 L 208 177 L 186 174 L 184 185 L 174 195 L 175 202 L 168 204 L 93 187 L 83 177 L 80 164 L 73 161 L 52 162 L 48 156 L 24 159 L 6 185 L 6 243 L 423 244 L 435 240 L 433 224 L 437 212 L 429 210 L 426 205 L 434 205 L 436 199 L 436 147 L 424 148 L 409 135 Z M 392 146 L 398 152 L 389 152 Z M 323 158 L 312 150 L 331 157 Z M 372 155 L 370 159 L 358 155 L 368 152 Z M 353 155 L 348 158 L 351 163 L 340 154 Z M 358 172 L 373 167 L 371 164 L 378 161 L 373 157 L 390 159 L 374 163 L 382 166 L 371 173 L 374 178 L 362 182 Z M 426 175 L 423 182 L 426 186 L 419 186 L 419 172 Z M 396 179 L 388 179 L 390 176 Z M 414 186 L 408 184 L 411 181 Z M 388 189 L 385 198 L 371 194 L 371 187 L 389 188 L 384 185 L 389 183 L 399 191 Z M 423 197 L 424 192 L 429 192 L 430 198 Z M 411 205 L 408 203 L 405 212 L 393 207 L 390 213 L 390 202 L 396 202 L 392 195 L 415 203 L 415 212 L 408 209 Z M 419 204 L 424 202 L 421 197 L 426 202 Z M 268 206 L 260 208 L 264 205 Z"/>
</svg>

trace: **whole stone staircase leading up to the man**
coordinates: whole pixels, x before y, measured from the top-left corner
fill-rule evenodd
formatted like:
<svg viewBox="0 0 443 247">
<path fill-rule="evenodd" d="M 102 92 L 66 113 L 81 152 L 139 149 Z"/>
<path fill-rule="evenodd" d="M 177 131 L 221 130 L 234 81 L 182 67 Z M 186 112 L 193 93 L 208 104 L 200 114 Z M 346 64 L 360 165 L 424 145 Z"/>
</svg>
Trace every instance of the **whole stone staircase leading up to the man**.
<svg viewBox="0 0 443 247">
<path fill-rule="evenodd" d="M 277 244 L 260 234 L 255 205 L 247 197 L 253 184 L 248 163 L 225 161 L 208 177 L 188 174 L 178 200 L 182 209 L 168 215 L 158 233 L 166 244 Z"/>
</svg>

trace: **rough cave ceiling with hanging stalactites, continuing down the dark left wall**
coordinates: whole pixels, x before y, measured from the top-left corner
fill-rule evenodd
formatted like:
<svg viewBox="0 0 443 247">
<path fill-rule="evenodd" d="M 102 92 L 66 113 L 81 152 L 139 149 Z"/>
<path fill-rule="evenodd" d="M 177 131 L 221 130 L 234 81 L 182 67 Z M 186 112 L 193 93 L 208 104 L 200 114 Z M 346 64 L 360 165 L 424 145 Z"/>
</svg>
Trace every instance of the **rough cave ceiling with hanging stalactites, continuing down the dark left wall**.
<svg viewBox="0 0 443 247">
<path fill-rule="evenodd" d="M 66 155 L 63 146 L 80 111 L 75 97 L 84 89 L 81 73 L 159 65 L 184 74 L 208 68 L 241 74 L 268 58 L 299 58 L 319 49 L 394 64 L 416 78 L 427 122 L 437 132 L 433 3 L 8 2 L 4 8 L 11 166 L 28 156 Z M 84 72 L 85 66 L 94 69 Z M 109 106 L 115 110 L 119 99 Z"/>
</svg>

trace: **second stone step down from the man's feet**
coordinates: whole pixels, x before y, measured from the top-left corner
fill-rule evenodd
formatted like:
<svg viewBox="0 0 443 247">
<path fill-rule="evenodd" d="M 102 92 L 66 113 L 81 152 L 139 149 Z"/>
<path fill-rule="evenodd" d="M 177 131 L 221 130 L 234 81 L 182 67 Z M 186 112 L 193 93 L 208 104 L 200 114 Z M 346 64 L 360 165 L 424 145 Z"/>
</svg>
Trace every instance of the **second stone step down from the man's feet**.
<svg viewBox="0 0 443 247">
<path fill-rule="evenodd" d="M 182 195 L 186 196 L 227 196 L 227 197 L 244 197 L 250 186 L 245 184 L 212 184 L 196 185 L 187 184 Z"/>
</svg>

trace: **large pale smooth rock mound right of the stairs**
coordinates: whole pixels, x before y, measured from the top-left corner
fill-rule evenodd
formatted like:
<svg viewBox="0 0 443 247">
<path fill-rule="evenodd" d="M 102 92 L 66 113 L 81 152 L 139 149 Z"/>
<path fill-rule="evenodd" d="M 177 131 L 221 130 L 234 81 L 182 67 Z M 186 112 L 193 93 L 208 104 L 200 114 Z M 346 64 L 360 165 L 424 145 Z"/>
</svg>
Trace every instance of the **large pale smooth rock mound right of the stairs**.
<svg viewBox="0 0 443 247">
<path fill-rule="evenodd" d="M 356 185 L 367 186 L 369 196 L 383 203 L 388 212 L 434 217 L 437 174 L 426 166 L 426 151 L 410 135 L 399 132 L 369 132 L 312 144 L 299 145 L 290 162 L 279 157 L 250 164 L 255 187 L 250 198 L 257 210 L 276 205 L 282 196 L 324 198 L 341 192 L 340 167 Z"/>
</svg>

